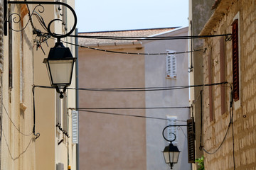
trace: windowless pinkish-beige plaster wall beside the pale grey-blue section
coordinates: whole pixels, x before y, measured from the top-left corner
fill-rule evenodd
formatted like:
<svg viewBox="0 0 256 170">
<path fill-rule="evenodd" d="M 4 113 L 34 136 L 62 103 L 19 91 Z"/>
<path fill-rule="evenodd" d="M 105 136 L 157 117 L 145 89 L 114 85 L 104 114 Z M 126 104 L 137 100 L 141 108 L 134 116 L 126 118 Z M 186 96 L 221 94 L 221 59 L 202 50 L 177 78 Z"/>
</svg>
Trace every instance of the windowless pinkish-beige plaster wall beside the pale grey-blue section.
<svg viewBox="0 0 256 170">
<path fill-rule="evenodd" d="M 125 47 L 125 48 L 124 48 Z M 144 52 L 140 45 L 101 47 Z M 144 87 L 144 56 L 79 48 L 80 88 Z M 80 108 L 144 107 L 144 92 L 80 91 Z M 94 110 L 142 115 L 144 111 Z M 146 169 L 145 120 L 80 111 L 80 169 Z"/>
</svg>

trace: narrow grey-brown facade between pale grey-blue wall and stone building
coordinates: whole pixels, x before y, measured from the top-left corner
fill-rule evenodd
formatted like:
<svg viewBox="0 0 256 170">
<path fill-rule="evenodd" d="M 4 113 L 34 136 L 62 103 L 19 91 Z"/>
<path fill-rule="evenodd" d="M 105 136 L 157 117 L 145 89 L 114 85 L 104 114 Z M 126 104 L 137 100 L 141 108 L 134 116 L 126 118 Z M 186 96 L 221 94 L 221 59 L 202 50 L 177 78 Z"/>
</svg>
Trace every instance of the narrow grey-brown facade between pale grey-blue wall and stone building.
<svg viewBox="0 0 256 170">
<path fill-rule="evenodd" d="M 203 26 L 208 21 L 213 11 L 210 9 L 214 4 L 214 1 L 204 0 L 190 0 L 189 1 L 189 35 L 198 35 Z M 199 50 L 197 52 L 191 52 L 189 54 L 189 84 L 199 85 L 203 84 L 203 39 L 195 38 L 188 41 L 189 51 Z M 201 148 L 201 139 L 203 133 L 201 133 L 201 88 L 190 89 L 190 106 L 193 106 L 191 117 L 194 117 L 195 121 L 195 154 L 193 159 L 198 159 L 203 156 L 203 150 Z M 193 162 L 193 160 L 191 160 Z M 198 169 L 196 164 L 193 164 L 193 169 Z"/>
</svg>

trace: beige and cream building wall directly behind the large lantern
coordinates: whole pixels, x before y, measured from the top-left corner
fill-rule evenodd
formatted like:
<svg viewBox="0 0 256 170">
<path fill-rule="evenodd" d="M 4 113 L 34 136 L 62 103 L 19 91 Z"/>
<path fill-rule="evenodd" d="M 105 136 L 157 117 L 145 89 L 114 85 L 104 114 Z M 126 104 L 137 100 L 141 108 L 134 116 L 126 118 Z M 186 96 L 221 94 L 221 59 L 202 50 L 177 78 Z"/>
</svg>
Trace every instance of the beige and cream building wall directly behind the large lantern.
<svg viewBox="0 0 256 170">
<path fill-rule="evenodd" d="M 70 6 L 75 6 L 74 1 L 68 1 Z M 53 5 L 46 5 L 45 12 L 42 14 L 46 23 L 49 23 L 54 18 L 60 18 L 58 15 L 60 11 Z M 68 11 L 68 26 L 70 29 L 73 26 L 73 16 L 70 16 Z M 37 25 L 40 28 L 39 25 Z M 63 33 L 63 27 L 60 23 L 55 23 L 51 27 L 55 33 Z M 62 40 L 68 42 L 75 42 L 74 38 L 63 38 Z M 48 57 L 50 47 L 55 45 L 55 40 L 49 39 L 48 46 L 46 43 L 42 44 L 46 55 L 39 48 L 34 50 L 35 55 L 35 84 L 42 86 L 50 86 L 46 64 L 43 64 L 43 59 Z M 63 43 L 65 47 L 70 47 L 70 51 L 75 57 L 75 47 Z M 75 87 L 75 67 L 73 70 L 73 83 L 70 87 Z M 75 108 L 75 90 L 68 90 L 68 107 Z M 70 138 L 63 135 L 58 128 L 56 128 L 56 98 L 55 89 L 36 88 L 36 132 L 40 132 L 41 136 L 36 140 L 36 169 L 56 169 L 58 163 L 64 164 L 64 168 L 76 169 L 76 148 L 72 143 L 72 123 L 71 111 L 68 112 L 68 127 Z M 62 115 L 62 113 L 61 113 Z M 58 145 L 58 142 L 63 139 L 63 142 Z M 69 154 L 69 164 L 68 164 Z"/>
</svg>

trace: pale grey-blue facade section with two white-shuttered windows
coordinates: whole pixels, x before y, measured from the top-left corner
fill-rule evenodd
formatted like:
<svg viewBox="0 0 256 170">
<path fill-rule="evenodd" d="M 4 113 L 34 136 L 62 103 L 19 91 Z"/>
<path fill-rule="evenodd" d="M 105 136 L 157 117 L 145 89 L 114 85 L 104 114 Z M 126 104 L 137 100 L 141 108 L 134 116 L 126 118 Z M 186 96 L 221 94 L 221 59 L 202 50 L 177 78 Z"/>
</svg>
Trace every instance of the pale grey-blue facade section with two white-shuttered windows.
<svg viewBox="0 0 256 170">
<path fill-rule="evenodd" d="M 151 35 L 151 37 L 188 36 L 188 27 L 176 28 L 164 33 Z M 168 55 L 145 56 L 145 87 L 166 87 L 188 85 L 188 53 L 175 54 L 175 52 L 188 51 L 188 40 L 144 40 L 145 52 L 166 52 Z M 169 61 L 171 60 L 171 61 Z M 162 137 L 166 125 L 186 125 L 190 118 L 188 102 L 188 89 L 171 91 L 146 91 L 146 108 L 154 107 L 181 107 L 176 109 L 146 109 L 147 117 L 157 117 L 166 120 L 146 119 L 146 169 L 167 169 L 169 165 L 164 162 L 163 154 L 159 149 L 169 145 Z M 184 108 L 182 108 L 184 107 Z M 176 140 L 174 145 L 181 150 L 178 163 L 173 169 L 191 169 L 188 164 L 187 128 L 171 127 L 166 130 L 167 139 L 173 139 L 168 133 L 174 132 Z"/>
</svg>

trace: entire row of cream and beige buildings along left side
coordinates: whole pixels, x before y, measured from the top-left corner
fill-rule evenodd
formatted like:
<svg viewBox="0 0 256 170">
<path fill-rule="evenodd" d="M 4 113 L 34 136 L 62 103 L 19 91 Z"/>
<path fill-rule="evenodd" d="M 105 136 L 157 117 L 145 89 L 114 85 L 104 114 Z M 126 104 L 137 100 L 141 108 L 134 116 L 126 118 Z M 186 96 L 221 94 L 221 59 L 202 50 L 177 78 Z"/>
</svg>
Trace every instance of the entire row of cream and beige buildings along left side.
<svg viewBox="0 0 256 170">
<path fill-rule="evenodd" d="M 74 1 L 69 4 L 74 6 Z M 34 11 L 35 7 L 31 4 L 7 4 L 7 1 L 0 1 L 0 169 L 60 169 L 60 166 L 68 169 L 68 165 L 76 169 L 76 145 L 71 140 L 72 125 L 68 121 L 68 115 L 72 119 L 71 111 L 65 111 L 63 106 L 60 118 L 70 132 L 68 138 L 56 128 L 58 96 L 55 91 L 40 88 L 32 90 L 34 85 L 49 85 L 43 58 L 47 57 L 44 53 L 48 55 L 49 48 L 55 42 L 48 39 L 50 47 L 42 42 L 47 38 L 41 34 L 45 30 L 37 18 L 41 18 L 41 23 L 46 21 L 48 24 L 52 19 L 63 19 L 65 16 L 68 26 L 73 24 L 70 22 L 72 19 L 68 11 L 60 16 L 58 6 L 55 5 L 46 5 L 45 8 L 37 6 Z M 57 33 L 65 33 L 61 24 L 54 25 Z M 68 38 L 66 40 L 70 41 Z M 75 54 L 74 47 L 72 52 Z M 65 103 L 75 107 L 75 92 L 68 91 L 67 95 Z M 64 120 L 64 117 L 67 118 Z M 58 166 L 58 163 L 63 164 Z"/>
</svg>

